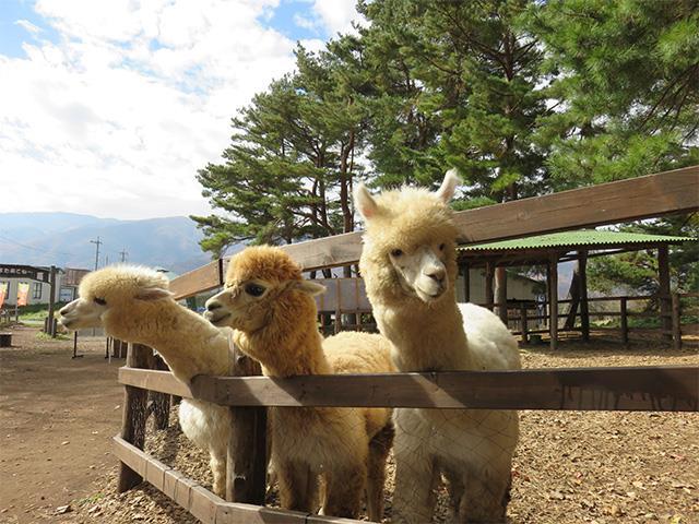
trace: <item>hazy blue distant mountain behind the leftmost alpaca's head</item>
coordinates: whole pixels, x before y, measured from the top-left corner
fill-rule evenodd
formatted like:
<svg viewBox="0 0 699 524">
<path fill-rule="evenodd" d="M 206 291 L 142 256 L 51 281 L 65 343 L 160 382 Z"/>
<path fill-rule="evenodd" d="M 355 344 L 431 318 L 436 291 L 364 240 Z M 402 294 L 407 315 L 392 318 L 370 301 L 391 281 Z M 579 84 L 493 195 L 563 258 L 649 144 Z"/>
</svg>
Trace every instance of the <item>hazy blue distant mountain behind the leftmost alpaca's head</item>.
<svg viewBox="0 0 699 524">
<path fill-rule="evenodd" d="M 202 234 L 185 216 L 119 221 L 72 213 L 0 213 L 0 263 L 93 269 L 121 260 L 185 273 L 210 260 Z"/>
</svg>

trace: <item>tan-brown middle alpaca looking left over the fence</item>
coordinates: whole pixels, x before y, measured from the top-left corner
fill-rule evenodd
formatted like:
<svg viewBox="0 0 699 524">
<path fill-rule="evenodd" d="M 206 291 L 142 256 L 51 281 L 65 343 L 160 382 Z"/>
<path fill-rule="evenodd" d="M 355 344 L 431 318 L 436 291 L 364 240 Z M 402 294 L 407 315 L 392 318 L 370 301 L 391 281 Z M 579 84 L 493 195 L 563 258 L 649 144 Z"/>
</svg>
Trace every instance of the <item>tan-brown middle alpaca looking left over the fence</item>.
<svg viewBox="0 0 699 524">
<path fill-rule="evenodd" d="M 301 279 L 281 249 L 247 248 L 230 260 L 226 290 L 206 302 L 206 315 L 235 327 L 236 343 L 268 377 L 391 371 L 379 335 L 342 333 L 323 343 L 312 298 L 323 290 Z M 369 519 L 380 521 L 390 417 L 386 408 L 270 408 L 282 507 L 315 511 L 322 475 L 323 513 L 356 517 L 366 485 Z"/>
</svg>

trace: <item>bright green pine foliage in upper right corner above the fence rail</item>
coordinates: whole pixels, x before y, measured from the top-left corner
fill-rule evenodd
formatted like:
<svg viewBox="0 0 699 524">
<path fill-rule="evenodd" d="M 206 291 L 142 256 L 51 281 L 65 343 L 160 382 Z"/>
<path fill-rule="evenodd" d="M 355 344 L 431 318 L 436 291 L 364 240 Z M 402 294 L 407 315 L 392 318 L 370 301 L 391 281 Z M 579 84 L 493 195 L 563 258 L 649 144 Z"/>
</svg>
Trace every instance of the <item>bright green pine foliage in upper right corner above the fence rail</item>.
<svg viewBox="0 0 699 524">
<path fill-rule="evenodd" d="M 533 3 L 560 110 L 540 139 L 567 189 L 697 164 L 699 10 L 691 0 Z"/>
</svg>

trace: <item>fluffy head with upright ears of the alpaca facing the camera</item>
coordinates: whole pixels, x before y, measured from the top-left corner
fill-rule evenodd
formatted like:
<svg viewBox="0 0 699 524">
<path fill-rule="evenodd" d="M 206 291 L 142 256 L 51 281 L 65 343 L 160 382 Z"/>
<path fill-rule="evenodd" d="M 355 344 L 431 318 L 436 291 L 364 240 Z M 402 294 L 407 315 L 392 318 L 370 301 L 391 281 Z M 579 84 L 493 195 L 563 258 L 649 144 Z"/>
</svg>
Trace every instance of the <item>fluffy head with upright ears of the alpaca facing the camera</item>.
<svg viewBox="0 0 699 524">
<path fill-rule="evenodd" d="M 405 187 L 371 195 L 364 184 L 355 189 L 366 225 L 359 267 L 370 294 L 431 303 L 453 288 L 458 229 L 449 201 L 459 181 L 452 169 L 435 192 Z"/>
</svg>

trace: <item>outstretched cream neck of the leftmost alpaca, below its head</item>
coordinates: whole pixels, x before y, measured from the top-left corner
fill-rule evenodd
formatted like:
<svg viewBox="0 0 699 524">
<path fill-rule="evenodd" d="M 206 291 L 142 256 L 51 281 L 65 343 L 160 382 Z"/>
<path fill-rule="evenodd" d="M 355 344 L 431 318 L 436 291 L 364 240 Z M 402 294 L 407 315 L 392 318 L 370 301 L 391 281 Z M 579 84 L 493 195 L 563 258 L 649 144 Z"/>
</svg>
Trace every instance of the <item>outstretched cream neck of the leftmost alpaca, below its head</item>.
<svg viewBox="0 0 699 524">
<path fill-rule="evenodd" d="M 226 335 L 193 311 L 173 300 L 158 300 L 131 309 L 128 319 L 131 322 L 110 322 L 117 329 L 109 331 L 157 350 L 179 380 L 228 373 Z"/>
</svg>

